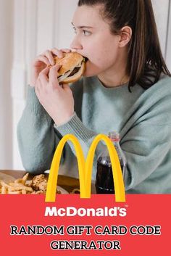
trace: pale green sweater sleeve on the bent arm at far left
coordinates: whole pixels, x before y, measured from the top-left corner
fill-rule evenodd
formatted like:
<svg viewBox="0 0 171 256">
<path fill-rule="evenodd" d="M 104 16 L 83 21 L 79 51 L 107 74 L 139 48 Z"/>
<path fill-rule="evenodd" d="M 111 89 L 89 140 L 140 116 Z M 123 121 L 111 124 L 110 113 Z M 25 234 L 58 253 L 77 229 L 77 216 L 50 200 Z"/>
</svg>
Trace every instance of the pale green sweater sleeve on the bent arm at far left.
<svg viewBox="0 0 171 256">
<path fill-rule="evenodd" d="M 42 173 L 49 169 L 59 139 L 54 121 L 39 103 L 34 88 L 28 86 L 25 110 L 17 125 L 17 140 L 25 170 Z"/>
</svg>

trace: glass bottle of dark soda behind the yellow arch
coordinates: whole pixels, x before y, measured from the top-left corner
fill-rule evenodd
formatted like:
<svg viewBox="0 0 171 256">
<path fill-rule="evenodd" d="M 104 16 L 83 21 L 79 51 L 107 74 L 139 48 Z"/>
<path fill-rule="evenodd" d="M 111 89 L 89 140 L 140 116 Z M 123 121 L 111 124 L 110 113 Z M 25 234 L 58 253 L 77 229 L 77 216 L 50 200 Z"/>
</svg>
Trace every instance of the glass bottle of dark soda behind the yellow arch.
<svg viewBox="0 0 171 256">
<path fill-rule="evenodd" d="M 110 132 L 109 139 L 111 139 L 117 151 L 117 155 L 120 160 L 120 166 L 122 169 L 122 176 L 124 177 L 126 168 L 126 158 L 125 154 L 122 152 L 122 149 L 120 147 L 120 134 L 115 131 Z M 109 152 L 107 148 L 104 150 L 104 152 L 101 152 L 97 160 L 95 186 L 96 194 L 114 194 L 112 164 L 110 161 Z"/>
</svg>

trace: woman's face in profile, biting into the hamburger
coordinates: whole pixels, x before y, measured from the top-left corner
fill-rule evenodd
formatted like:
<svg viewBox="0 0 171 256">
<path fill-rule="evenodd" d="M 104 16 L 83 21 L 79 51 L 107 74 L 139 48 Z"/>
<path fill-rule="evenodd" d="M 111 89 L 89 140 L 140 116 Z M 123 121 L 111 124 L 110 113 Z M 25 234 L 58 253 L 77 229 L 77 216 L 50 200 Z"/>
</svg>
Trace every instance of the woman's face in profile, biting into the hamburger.
<svg viewBox="0 0 171 256">
<path fill-rule="evenodd" d="M 120 36 L 113 35 L 100 15 L 100 6 L 83 5 L 75 11 L 72 25 L 75 38 L 71 48 L 88 58 L 85 76 L 114 70 L 119 56 Z"/>
</svg>

